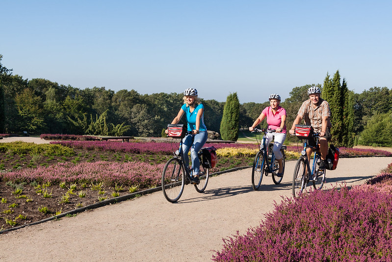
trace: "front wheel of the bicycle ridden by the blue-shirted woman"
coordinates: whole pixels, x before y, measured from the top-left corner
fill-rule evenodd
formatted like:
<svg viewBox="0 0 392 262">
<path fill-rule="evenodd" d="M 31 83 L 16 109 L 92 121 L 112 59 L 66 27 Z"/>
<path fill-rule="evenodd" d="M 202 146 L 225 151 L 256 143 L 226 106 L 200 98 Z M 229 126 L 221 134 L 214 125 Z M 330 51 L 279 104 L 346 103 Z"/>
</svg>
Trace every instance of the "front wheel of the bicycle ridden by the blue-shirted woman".
<svg viewBox="0 0 392 262">
<path fill-rule="evenodd" d="M 174 203 L 183 194 L 185 185 L 185 170 L 176 157 L 167 161 L 162 173 L 162 191 L 166 200 Z"/>
</svg>

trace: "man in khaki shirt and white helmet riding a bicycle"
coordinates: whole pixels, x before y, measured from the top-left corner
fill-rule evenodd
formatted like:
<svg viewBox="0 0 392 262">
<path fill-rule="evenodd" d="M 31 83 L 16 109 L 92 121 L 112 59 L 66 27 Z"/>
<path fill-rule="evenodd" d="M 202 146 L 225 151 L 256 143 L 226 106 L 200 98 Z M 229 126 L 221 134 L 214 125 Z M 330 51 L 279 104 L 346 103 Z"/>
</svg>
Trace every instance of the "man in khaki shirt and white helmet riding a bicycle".
<svg viewBox="0 0 392 262">
<path fill-rule="evenodd" d="M 320 98 L 321 90 L 318 87 L 310 87 L 308 89 L 309 100 L 302 103 L 298 115 L 295 118 L 291 129 L 288 131 L 291 135 L 295 132 L 295 125 L 304 119 L 306 125 L 311 125 L 315 132 L 320 133 L 320 153 L 321 163 L 319 168 L 325 169 L 325 158 L 328 154 L 328 141 L 331 140 L 331 109 L 324 99 Z M 308 159 L 312 154 L 312 148 L 306 149 Z"/>
</svg>

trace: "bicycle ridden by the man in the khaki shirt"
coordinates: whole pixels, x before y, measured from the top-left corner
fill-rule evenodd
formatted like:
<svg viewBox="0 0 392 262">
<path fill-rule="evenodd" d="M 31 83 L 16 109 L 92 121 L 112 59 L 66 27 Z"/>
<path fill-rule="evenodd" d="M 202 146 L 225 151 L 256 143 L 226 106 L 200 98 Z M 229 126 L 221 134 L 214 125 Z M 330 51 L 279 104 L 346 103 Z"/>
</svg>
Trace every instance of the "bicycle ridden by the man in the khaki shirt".
<svg viewBox="0 0 392 262">
<path fill-rule="evenodd" d="M 300 127 L 304 128 L 306 126 L 302 125 Z M 296 127 L 296 129 L 297 128 L 298 127 Z M 313 187 L 316 190 L 320 190 L 325 182 L 325 170 L 318 169 L 321 161 L 320 145 L 318 143 L 320 139 L 320 133 L 313 132 L 313 129 L 311 129 L 310 126 L 308 126 L 308 128 L 312 130 L 310 139 L 314 138 L 315 146 L 309 145 L 309 140 L 305 140 L 304 142 L 304 148 L 301 151 L 301 156 L 299 157 L 294 168 L 294 175 L 292 179 L 292 194 L 294 197 L 299 197 L 302 192 L 306 190 L 309 182 L 313 182 Z M 308 159 L 308 155 L 306 154 L 307 147 L 312 148 L 314 152 L 312 168 L 310 167 L 310 161 Z"/>
</svg>

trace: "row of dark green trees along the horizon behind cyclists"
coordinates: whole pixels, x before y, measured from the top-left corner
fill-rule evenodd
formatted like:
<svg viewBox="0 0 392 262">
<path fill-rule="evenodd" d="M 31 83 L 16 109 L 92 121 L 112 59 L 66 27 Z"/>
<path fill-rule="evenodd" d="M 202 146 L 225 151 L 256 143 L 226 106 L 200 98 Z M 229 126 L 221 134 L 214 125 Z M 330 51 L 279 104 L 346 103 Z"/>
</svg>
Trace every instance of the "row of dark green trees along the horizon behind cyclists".
<svg viewBox="0 0 392 262">
<path fill-rule="evenodd" d="M 0 55 L 0 133 L 157 137 L 183 104 L 182 93 L 142 95 L 133 89 L 117 92 L 105 87 L 78 89 L 45 79 L 23 79 L 2 66 L 1 58 Z M 301 103 L 309 98 L 307 89 L 311 86 L 314 85 L 294 87 L 282 101 L 281 106 L 287 111 L 287 127 Z M 332 78 L 327 74 L 323 86 L 317 86 L 322 89 L 322 98 L 331 105 L 334 144 L 352 146 L 358 141 L 365 145 L 392 145 L 392 136 L 385 135 L 391 130 L 385 128 L 391 127 L 392 90 L 372 87 L 354 93 L 348 90 L 345 79 L 341 82 L 339 71 Z M 263 103 L 243 104 L 239 104 L 236 93 L 229 94 L 226 102 L 202 99 L 205 123 L 209 130 L 221 133 L 223 139 L 236 140 L 238 127 L 252 125 L 269 105 L 268 96 L 266 93 Z M 265 121 L 261 125 L 266 126 Z M 376 132 L 375 137 L 375 130 L 383 132 Z"/>
</svg>

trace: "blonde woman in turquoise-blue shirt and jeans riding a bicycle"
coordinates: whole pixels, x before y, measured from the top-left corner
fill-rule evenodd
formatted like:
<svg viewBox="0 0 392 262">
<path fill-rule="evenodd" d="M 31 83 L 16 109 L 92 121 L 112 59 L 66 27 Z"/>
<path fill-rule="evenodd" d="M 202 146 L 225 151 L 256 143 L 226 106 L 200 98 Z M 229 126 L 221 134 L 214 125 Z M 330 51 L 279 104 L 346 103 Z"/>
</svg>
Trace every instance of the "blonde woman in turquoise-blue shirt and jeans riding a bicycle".
<svg viewBox="0 0 392 262">
<path fill-rule="evenodd" d="M 195 88 L 188 88 L 184 91 L 184 104 L 173 119 L 172 124 L 177 124 L 185 114 L 188 123 L 188 131 L 192 134 L 183 138 L 183 155 L 185 167 L 189 166 L 188 152 L 192 159 L 193 176 L 192 183 L 199 184 L 200 161 L 197 152 L 204 146 L 207 141 L 207 127 L 204 124 L 204 106 L 200 103 Z M 166 130 L 167 132 L 167 130 Z"/>
</svg>

